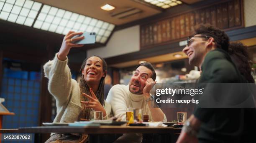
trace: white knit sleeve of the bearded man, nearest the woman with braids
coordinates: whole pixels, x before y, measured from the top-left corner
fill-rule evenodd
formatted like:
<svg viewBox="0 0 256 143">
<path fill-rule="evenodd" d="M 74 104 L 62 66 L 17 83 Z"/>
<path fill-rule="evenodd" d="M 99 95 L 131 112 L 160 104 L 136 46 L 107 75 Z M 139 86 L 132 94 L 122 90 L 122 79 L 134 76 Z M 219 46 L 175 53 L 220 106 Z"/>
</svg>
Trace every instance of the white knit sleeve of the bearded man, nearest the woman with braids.
<svg viewBox="0 0 256 143">
<path fill-rule="evenodd" d="M 128 95 L 125 93 L 124 88 L 125 85 L 114 85 L 108 92 L 106 99 L 112 106 L 115 117 L 121 118 L 122 121 L 126 121 L 126 109 L 128 108 L 127 99 L 125 98 Z"/>
</svg>

